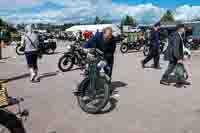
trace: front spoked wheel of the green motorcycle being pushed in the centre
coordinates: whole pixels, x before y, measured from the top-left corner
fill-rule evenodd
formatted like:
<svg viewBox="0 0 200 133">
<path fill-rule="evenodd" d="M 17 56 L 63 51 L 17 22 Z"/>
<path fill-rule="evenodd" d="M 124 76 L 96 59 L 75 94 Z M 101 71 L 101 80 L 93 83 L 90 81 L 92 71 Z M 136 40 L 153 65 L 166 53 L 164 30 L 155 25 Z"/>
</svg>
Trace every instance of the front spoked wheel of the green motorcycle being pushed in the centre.
<svg viewBox="0 0 200 133">
<path fill-rule="evenodd" d="M 110 98 L 110 87 L 104 78 L 96 81 L 96 88 L 89 88 L 90 80 L 84 79 L 79 86 L 80 94 L 77 100 L 80 108 L 90 114 L 99 113 L 108 103 Z"/>
</svg>

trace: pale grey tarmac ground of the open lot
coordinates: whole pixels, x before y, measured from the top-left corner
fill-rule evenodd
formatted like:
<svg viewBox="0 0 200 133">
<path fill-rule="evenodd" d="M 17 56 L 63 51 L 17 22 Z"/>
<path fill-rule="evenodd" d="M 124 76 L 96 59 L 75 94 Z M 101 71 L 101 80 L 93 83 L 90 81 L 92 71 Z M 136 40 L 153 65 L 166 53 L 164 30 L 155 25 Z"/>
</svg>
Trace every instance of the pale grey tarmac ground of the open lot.
<svg viewBox="0 0 200 133">
<path fill-rule="evenodd" d="M 24 56 L 17 56 L 13 46 L 3 49 L 0 79 L 10 96 L 25 99 L 30 111 L 25 122 L 27 133 L 199 133 L 200 132 L 200 53 L 192 56 L 192 85 L 177 88 L 163 86 L 161 70 L 142 69 L 142 52 L 115 55 L 112 96 L 104 112 L 84 113 L 73 92 L 83 77 L 80 70 L 58 71 L 58 59 L 65 51 L 59 44 L 56 54 L 39 60 L 41 82 L 29 82 Z M 7 58 L 6 58 L 7 57 Z M 151 65 L 151 63 L 149 64 Z"/>
</svg>

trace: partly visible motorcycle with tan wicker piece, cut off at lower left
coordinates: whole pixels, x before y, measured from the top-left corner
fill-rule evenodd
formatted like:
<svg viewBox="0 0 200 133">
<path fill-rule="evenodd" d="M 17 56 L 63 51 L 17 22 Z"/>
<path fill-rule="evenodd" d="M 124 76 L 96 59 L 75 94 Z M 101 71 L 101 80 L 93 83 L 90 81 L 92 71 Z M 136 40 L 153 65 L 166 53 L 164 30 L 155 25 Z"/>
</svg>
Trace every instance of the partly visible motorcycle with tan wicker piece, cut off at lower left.
<svg viewBox="0 0 200 133">
<path fill-rule="evenodd" d="M 8 97 L 7 89 L 0 81 L 0 133 L 26 133 L 23 122 L 29 115 L 27 110 L 22 110 L 20 103 L 23 98 Z M 18 112 L 13 113 L 6 108 L 17 105 Z"/>
</svg>

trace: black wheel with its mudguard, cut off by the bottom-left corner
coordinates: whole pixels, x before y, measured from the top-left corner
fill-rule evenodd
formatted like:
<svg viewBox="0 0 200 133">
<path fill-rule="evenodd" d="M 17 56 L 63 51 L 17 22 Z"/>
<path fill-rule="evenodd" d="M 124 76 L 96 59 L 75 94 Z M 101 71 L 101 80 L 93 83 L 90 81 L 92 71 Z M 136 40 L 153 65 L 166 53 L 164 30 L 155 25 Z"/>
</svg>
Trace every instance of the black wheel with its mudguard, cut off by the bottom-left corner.
<svg viewBox="0 0 200 133">
<path fill-rule="evenodd" d="M 14 114 L 1 111 L 0 117 L 0 133 L 25 133 L 22 122 Z"/>
</svg>

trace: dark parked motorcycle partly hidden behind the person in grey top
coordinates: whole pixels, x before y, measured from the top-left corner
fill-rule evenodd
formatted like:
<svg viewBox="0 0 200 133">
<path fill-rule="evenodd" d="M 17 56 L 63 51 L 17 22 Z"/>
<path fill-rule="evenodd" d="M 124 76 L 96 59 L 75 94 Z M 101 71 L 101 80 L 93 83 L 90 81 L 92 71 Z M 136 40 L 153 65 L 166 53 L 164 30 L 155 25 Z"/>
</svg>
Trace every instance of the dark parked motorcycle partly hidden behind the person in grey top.
<svg viewBox="0 0 200 133">
<path fill-rule="evenodd" d="M 55 39 L 48 39 L 42 35 L 39 36 L 39 49 L 42 54 L 54 54 L 56 48 L 57 44 Z M 16 53 L 18 55 L 24 55 L 24 50 L 25 48 L 18 43 L 16 47 Z"/>
</svg>

